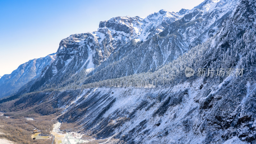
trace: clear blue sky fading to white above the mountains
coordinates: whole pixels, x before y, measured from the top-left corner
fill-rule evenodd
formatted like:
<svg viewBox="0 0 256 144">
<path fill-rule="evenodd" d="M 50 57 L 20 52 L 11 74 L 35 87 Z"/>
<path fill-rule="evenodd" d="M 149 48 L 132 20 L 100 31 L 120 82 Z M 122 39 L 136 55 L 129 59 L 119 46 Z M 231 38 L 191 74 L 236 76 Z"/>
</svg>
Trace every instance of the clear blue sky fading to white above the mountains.
<svg viewBox="0 0 256 144">
<path fill-rule="evenodd" d="M 192 9 L 203 0 L 0 0 L 0 76 L 54 53 L 71 34 L 96 31 L 116 16 L 146 17 L 165 9 Z"/>
</svg>

